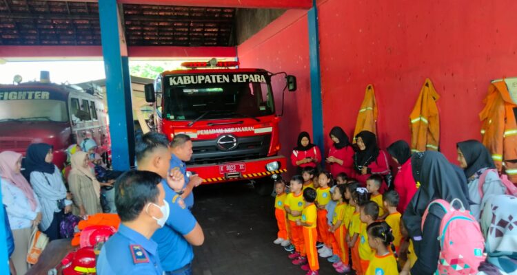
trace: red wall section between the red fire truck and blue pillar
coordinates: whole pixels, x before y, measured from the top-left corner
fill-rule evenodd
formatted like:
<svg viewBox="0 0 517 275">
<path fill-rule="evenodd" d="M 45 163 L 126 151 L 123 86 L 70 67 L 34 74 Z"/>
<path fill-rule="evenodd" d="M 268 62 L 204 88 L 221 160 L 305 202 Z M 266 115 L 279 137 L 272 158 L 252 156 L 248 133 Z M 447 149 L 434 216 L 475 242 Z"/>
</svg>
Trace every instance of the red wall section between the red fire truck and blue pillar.
<svg viewBox="0 0 517 275">
<path fill-rule="evenodd" d="M 237 48 L 241 67 L 287 72 L 296 76 L 298 90 L 285 91 L 284 115 L 280 122 L 281 154 L 290 157 L 301 131 L 312 133 L 307 11 L 290 10 Z M 276 113 L 281 113 L 282 76 L 273 78 Z M 287 167 L 293 171 L 291 164 Z"/>
</svg>

